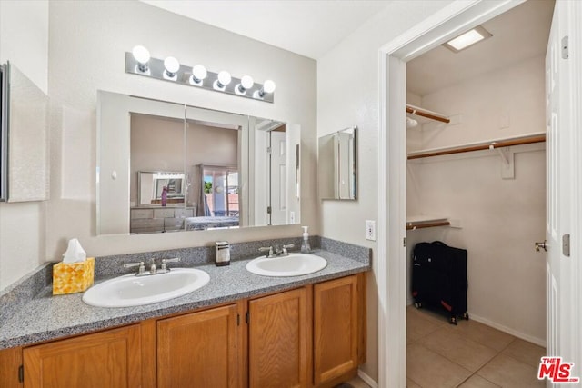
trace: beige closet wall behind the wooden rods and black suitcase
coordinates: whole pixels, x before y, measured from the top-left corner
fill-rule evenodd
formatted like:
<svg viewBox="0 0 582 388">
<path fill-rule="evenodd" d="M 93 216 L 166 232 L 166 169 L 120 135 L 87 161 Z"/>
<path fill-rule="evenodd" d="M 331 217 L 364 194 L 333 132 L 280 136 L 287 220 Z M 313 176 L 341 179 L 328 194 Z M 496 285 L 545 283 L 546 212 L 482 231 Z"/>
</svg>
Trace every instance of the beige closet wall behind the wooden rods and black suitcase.
<svg viewBox="0 0 582 388">
<path fill-rule="evenodd" d="M 427 149 L 545 132 L 544 96 L 544 56 L 537 56 L 423 96 L 423 107 L 461 122 L 408 133 Z M 408 232 L 408 251 L 435 240 L 466 248 L 469 313 L 544 344 L 546 264 L 533 243 L 546 234 L 546 153 L 543 144 L 511 149 L 518 153 L 515 179 L 502 179 L 497 151 L 410 161 L 408 214 L 445 215 L 461 228 Z"/>
</svg>

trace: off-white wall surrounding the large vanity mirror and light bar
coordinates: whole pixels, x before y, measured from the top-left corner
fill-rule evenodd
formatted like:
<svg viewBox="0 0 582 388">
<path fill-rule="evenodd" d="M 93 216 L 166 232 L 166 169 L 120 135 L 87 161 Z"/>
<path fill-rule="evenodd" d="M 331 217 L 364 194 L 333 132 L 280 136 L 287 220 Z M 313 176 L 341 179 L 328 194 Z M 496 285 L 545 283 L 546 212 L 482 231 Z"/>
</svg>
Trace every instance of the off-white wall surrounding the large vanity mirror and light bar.
<svg viewBox="0 0 582 388">
<path fill-rule="evenodd" d="M 128 17 L 131 15 L 131 17 Z M 155 26 L 155 28 L 153 27 Z M 275 104 L 125 74 L 125 52 L 146 45 L 153 57 L 276 81 Z M 87 254 L 124 254 L 186 246 L 298 236 L 299 225 L 237 231 L 95 236 L 95 104 L 98 89 L 300 124 L 302 214 L 319 231 L 315 201 L 316 62 L 241 35 L 134 1 L 51 2 L 49 90 L 52 111 L 52 199 L 46 259 L 77 237 Z M 74 137 L 75 144 L 66 139 Z M 70 177 L 74 177 L 70 179 Z"/>
</svg>

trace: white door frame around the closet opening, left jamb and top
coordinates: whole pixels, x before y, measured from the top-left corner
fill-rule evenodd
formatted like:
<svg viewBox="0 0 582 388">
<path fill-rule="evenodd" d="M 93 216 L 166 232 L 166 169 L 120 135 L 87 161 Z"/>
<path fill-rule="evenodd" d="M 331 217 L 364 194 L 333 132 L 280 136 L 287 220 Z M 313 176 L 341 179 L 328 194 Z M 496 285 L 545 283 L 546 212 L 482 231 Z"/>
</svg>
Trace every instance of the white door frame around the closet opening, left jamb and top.
<svg viewBox="0 0 582 388">
<path fill-rule="evenodd" d="M 447 5 L 380 47 L 378 386 L 406 386 L 406 62 L 525 0 Z"/>
</svg>

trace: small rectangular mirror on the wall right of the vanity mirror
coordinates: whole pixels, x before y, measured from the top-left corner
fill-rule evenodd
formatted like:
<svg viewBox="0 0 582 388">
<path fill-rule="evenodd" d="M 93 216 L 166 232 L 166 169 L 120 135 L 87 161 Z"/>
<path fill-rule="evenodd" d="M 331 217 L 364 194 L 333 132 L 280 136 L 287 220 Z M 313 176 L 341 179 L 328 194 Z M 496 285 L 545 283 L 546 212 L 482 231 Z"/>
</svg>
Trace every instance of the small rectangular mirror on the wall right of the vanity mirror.
<svg viewBox="0 0 582 388">
<path fill-rule="evenodd" d="M 357 127 L 350 126 L 318 141 L 317 181 L 320 199 L 357 198 Z"/>
</svg>

